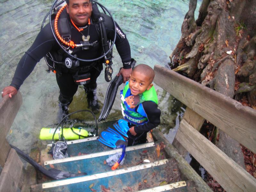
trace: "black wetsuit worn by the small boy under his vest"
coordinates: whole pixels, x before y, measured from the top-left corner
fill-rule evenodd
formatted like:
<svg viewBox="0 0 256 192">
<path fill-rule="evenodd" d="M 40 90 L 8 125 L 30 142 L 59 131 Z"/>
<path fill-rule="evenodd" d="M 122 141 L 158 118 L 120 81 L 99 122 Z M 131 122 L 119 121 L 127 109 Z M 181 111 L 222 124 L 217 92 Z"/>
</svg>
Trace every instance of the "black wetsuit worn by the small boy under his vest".
<svg viewBox="0 0 256 192">
<path fill-rule="evenodd" d="M 148 122 L 142 125 L 128 124 L 129 127 L 134 126 L 134 131 L 137 133 L 133 136 L 129 131 L 127 132 L 128 146 L 147 142 L 147 132 L 160 124 L 161 111 L 157 108 L 157 104 L 152 101 L 144 101 L 142 102 L 142 106 L 147 114 Z M 137 108 L 135 108 L 135 111 Z"/>
</svg>

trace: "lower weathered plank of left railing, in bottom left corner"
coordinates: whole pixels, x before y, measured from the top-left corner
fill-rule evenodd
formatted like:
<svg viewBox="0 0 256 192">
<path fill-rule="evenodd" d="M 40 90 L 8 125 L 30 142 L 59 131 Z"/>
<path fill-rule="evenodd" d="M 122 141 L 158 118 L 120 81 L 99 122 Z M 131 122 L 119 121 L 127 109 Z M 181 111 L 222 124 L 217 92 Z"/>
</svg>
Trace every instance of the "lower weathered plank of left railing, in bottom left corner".
<svg viewBox="0 0 256 192">
<path fill-rule="evenodd" d="M 14 149 L 10 150 L 0 176 L 0 191 L 16 192 L 22 174 L 22 162 Z"/>
</svg>

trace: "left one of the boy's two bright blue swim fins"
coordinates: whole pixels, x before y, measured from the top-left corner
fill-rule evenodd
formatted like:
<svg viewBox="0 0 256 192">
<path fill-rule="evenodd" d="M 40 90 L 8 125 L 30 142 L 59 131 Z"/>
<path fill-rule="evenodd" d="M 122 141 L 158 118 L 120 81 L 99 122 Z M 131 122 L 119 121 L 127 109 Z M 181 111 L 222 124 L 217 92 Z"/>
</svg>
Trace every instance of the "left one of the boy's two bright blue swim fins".
<svg viewBox="0 0 256 192">
<path fill-rule="evenodd" d="M 118 145 L 126 145 L 126 140 L 115 130 L 108 127 L 105 131 L 101 132 L 99 137 L 97 138 L 102 144 L 115 148 Z"/>
</svg>

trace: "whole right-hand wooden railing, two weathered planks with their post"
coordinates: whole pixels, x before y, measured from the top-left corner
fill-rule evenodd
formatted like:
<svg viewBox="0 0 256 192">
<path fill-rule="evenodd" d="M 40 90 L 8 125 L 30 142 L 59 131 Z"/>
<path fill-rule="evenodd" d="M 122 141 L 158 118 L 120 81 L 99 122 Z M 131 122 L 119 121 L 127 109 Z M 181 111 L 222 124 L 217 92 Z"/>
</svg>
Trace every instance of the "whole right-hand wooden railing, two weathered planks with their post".
<svg viewBox="0 0 256 192">
<path fill-rule="evenodd" d="M 175 140 L 227 191 L 253 191 L 256 179 L 198 131 L 207 119 L 255 153 L 256 110 L 167 68 L 154 71 L 154 83 L 187 106 Z"/>
</svg>

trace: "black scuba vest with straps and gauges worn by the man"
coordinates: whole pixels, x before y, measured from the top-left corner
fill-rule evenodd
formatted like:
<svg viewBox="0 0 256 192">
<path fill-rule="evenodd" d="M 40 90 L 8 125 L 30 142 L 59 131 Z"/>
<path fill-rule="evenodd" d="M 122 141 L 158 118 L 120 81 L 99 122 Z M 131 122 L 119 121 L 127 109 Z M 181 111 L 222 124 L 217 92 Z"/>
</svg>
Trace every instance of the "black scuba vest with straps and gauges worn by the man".
<svg viewBox="0 0 256 192">
<path fill-rule="evenodd" d="M 63 7 L 61 9 L 63 9 Z M 52 14 L 52 19 L 55 19 L 55 17 L 57 18 L 55 14 Z M 76 56 L 75 53 L 77 51 L 82 51 L 83 49 L 90 49 L 91 47 L 96 47 L 100 45 L 101 45 L 100 50 L 102 50 L 103 54 L 109 50 L 110 44 L 113 42 L 108 40 L 106 27 L 104 25 L 104 17 L 102 16 L 102 13 L 100 13 L 97 5 L 93 3 L 92 3 L 91 22 L 93 22 L 93 24 L 96 26 L 98 36 L 100 36 L 100 39 L 101 39 L 100 42 L 90 43 L 89 40 L 80 42 L 84 46 L 79 48 L 72 47 L 73 49 L 69 50 L 69 52 L 72 55 Z M 69 42 L 70 44 L 71 43 L 74 44 L 74 42 L 71 41 L 72 37 L 71 37 L 71 31 L 70 31 L 70 23 L 69 23 L 69 17 L 68 17 L 66 8 L 64 8 L 60 13 L 60 15 L 58 15 L 58 30 L 60 32 L 61 38 L 64 41 Z M 52 71 L 54 73 L 57 73 L 58 75 L 61 75 L 62 71 L 64 72 L 71 71 L 73 74 L 76 74 L 76 75 L 78 74 L 78 71 L 79 73 L 88 72 L 95 65 L 104 62 L 105 65 L 107 66 L 106 67 L 107 71 L 105 70 L 105 79 L 108 82 L 111 81 L 111 74 L 113 72 L 113 69 L 111 68 L 112 50 L 108 52 L 108 54 L 104 57 L 104 59 L 96 60 L 92 62 L 89 66 L 83 66 L 83 67 L 79 66 L 79 60 L 75 60 L 74 58 L 68 57 L 68 54 L 65 53 L 62 48 L 60 48 L 58 51 L 48 52 L 47 55 L 44 57 L 44 59 L 49 68 L 47 69 L 47 72 Z"/>
</svg>

